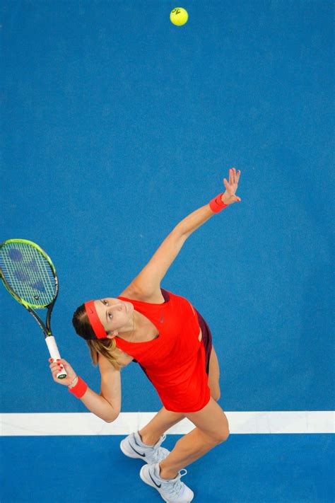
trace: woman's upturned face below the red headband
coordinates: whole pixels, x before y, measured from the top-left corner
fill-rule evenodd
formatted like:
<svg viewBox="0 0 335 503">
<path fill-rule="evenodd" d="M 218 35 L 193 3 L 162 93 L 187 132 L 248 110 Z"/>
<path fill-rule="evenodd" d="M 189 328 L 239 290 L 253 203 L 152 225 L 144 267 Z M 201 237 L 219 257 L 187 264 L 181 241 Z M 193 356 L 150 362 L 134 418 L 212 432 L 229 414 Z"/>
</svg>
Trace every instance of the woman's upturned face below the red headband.
<svg viewBox="0 0 335 503">
<path fill-rule="evenodd" d="M 134 306 L 131 302 L 104 297 L 94 301 L 94 305 L 107 335 L 117 335 L 120 329 L 122 332 L 132 330 Z M 114 332 L 115 334 L 113 334 Z"/>
</svg>

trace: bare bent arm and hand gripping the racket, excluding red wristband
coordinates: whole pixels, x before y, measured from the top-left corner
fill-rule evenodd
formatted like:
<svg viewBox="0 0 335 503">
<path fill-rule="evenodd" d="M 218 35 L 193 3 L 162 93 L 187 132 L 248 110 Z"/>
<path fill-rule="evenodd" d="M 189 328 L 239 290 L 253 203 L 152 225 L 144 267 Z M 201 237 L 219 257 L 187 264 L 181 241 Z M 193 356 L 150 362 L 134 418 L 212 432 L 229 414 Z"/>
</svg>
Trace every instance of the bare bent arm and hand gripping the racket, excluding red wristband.
<svg viewBox="0 0 335 503">
<path fill-rule="evenodd" d="M 74 381 L 76 372 L 63 358 L 59 363 L 64 365 L 68 376 L 65 379 L 57 379 L 59 367 L 57 363 L 52 363 L 50 369 L 54 381 L 64 386 L 69 386 L 71 382 Z M 86 405 L 90 412 L 93 412 L 93 414 L 100 417 L 102 420 L 113 422 L 117 419 L 121 410 L 121 373 L 115 370 L 112 364 L 104 357 L 101 357 L 101 355 L 99 355 L 99 367 L 101 373 L 100 395 L 90 388 L 87 388 L 86 392 L 79 400 Z M 73 386 L 76 386 L 76 381 L 77 379 L 74 381 Z"/>
</svg>

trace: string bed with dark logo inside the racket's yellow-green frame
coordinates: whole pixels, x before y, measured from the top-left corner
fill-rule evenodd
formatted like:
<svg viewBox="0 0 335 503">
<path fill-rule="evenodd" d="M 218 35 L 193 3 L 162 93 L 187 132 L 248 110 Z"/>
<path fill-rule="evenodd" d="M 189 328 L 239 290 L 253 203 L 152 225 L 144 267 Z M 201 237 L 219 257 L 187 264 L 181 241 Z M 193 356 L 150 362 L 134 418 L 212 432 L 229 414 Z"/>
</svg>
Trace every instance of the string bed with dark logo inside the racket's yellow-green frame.
<svg viewBox="0 0 335 503">
<path fill-rule="evenodd" d="M 32 245 L 6 243 L 0 249 L 0 267 L 9 287 L 20 299 L 35 306 L 47 306 L 54 299 L 56 283 L 52 267 Z"/>
</svg>

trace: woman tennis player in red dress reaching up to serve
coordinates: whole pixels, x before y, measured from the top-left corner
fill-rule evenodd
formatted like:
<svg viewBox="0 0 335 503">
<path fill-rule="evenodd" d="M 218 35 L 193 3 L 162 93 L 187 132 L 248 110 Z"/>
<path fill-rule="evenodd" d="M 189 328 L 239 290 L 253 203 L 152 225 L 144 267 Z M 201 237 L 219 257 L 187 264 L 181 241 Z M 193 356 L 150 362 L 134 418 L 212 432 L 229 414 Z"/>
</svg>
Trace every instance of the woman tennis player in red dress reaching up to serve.
<svg viewBox="0 0 335 503">
<path fill-rule="evenodd" d="M 140 477 L 165 502 L 192 501 L 193 491 L 180 480 L 187 473 L 182 470 L 228 439 L 229 425 L 217 403 L 220 371 L 211 331 L 187 299 L 162 289 L 160 282 L 192 232 L 213 214 L 240 202 L 235 195 L 239 179 L 240 170 L 230 169 L 229 182 L 223 179 L 225 192 L 183 219 L 121 295 L 88 301 L 74 313 L 76 333 L 86 340 L 93 364 L 99 364 L 100 395 L 66 360 L 50 364 L 54 381 L 68 386 L 106 422 L 113 422 L 121 410 L 121 369 L 130 362 L 140 364 L 163 408 L 145 427 L 123 439 L 120 448 L 126 456 L 146 461 Z M 62 365 L 68 376 L 59 380 Z M 171 452 L 161 447 L 164 432 L 184 417 L 196 427 Z"/>
</svg>

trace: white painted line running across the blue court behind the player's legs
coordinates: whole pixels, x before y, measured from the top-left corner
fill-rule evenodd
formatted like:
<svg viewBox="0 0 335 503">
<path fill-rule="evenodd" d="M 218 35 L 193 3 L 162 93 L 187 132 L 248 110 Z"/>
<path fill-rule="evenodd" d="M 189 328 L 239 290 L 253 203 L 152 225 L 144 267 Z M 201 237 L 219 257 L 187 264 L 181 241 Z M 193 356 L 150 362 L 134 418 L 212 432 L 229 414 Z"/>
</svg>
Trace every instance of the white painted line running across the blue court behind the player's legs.
<svg viewBox="0 0 335 503">
<path fill-rule="evenodd" d="M 143 428 L 156 412 L 121 412 L 107 423 L 91 412 L 1 414 L 1 436 L 128 435 Z M 231 434 L 335 433 L 333 410 L 226 412 Z M 187 418 L 167 434 L 191 432 Z"/>
</svg>

